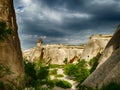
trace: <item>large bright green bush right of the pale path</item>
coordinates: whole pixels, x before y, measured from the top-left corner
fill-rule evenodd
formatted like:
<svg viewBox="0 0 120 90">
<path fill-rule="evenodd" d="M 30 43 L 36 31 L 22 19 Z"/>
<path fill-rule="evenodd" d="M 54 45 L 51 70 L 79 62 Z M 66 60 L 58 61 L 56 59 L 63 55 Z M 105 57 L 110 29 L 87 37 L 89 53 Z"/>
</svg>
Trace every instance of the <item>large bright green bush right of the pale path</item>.
<svg viewBox="0 0 120 90">
<path fill-rule="evenodd" d="M 83 82 L 90 74 L 85 60 L 79 60 L 77 64 L 66 65 L 64 73 L 68 76 L 75 77 L 75 80 L 78 82 Z"/>
</svg>

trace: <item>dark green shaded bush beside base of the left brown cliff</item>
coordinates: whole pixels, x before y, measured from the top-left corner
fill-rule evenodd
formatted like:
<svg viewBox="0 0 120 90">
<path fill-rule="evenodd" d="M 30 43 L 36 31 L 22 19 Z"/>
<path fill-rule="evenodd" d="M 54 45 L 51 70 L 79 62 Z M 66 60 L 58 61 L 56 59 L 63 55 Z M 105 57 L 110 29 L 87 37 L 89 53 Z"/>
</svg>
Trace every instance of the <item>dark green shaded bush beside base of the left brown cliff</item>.
<svg viewBox="0 0 120 90">
<path fill-rule="evenodd" d="M 24 60 L 26 87 L 37 87 L 46 84 L 49 67 L 41 62 L 29 62 Z"/>
</svg>

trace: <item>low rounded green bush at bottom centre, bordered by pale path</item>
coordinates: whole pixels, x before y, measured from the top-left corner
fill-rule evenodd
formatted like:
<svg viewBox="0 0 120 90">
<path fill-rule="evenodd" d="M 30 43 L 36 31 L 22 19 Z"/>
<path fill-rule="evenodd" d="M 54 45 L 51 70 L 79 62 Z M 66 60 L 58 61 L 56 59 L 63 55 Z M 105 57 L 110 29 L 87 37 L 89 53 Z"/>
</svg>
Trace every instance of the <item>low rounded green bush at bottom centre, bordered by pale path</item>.
<svg viewBox="0 0 120 90">
<path fill-rule="evenodd" d="M 72 84 L 65 80 L 56 80 L 55 85 L 64 89 L 72 87 Z"/>
</svg>

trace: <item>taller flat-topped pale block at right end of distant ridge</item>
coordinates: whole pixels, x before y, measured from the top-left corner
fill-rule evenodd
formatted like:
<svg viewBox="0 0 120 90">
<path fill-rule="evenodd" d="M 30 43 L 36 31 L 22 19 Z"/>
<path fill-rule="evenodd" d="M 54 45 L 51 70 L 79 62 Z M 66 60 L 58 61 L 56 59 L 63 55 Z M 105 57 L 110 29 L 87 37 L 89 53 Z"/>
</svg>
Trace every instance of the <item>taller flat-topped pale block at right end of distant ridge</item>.
<svg viewBox="0 0 120 90">
<path fill-rule="evenodd" d="M 89 38 L 81 59 L 89 61 L 93 57 L 99 57 L 112 35 L 95 34 Z"/>
</svg>

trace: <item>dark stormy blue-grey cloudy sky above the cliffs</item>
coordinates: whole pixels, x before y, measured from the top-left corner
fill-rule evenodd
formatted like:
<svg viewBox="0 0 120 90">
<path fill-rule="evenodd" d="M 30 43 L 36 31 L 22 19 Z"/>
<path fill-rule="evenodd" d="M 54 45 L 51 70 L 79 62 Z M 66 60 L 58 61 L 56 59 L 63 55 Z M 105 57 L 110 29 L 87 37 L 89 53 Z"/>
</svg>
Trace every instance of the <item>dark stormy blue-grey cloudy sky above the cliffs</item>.
<svg viewBox="0 0 120 90">
<path fill-rule="evenodd" d="M 92 34 L 112 34 L 120 24 L 120 0 L 14 0 L 23 50 L 44 44 L 80 45 Z"/>
</svg>

